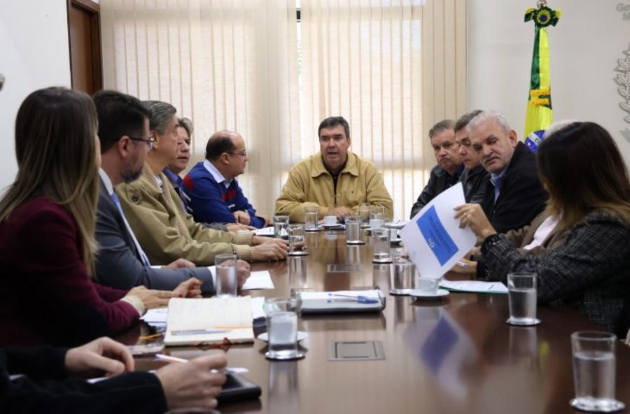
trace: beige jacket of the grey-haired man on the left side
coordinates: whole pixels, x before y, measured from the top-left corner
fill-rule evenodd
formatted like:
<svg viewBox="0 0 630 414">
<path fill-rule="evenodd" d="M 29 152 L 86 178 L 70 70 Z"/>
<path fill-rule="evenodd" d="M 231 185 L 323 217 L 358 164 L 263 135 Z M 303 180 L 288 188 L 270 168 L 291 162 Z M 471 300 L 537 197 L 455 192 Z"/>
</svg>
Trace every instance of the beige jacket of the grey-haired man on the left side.
<svg viewBox="0 0 630 414">
<path fill-rule="evenodd" d="M 116 187 L 125 217 L 151 264 L 183 258 L 197 266 L 211 266 L 216 255 L 233 252 L 251 261 L 251 233 L 218 231 L 195 223 L 193 216 L 183 212 L 168 178 L 162 173 L 159 177 L 164 192 L 145 163 L 139 180 Z"/>
</svg>

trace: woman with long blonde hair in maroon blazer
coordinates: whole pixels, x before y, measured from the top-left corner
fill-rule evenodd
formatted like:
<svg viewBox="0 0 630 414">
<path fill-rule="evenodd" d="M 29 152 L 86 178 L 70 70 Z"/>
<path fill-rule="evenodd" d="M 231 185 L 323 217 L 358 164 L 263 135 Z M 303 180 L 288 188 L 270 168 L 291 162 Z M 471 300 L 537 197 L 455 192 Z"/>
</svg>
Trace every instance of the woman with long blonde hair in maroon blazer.
<svg viewBox="0 0 630 414">
<path fill-rule="evenodd" d="M 94 103 L 83 92 L 38 90 L 18 110 L 19 171 L 0 200 L 0 345 L 76 345 L 117 334 L 194 286 L 125 292 L 92 281 L 96 131 Z"/>
</svg>

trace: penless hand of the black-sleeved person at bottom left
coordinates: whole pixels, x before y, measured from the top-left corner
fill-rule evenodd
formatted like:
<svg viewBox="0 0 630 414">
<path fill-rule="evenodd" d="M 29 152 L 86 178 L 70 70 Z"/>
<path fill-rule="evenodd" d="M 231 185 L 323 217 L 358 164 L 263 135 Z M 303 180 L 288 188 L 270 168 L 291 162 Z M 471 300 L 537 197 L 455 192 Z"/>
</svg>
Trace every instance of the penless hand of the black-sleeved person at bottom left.
<svg viewBox="0 0 630 414">
<path fill-rule="evenodd" d="M 66 352 L 66 372 L 69 376 L 94 378 L 117 376 L 134 370 L 134 358 L 122 343 L 110 338 L 98 338 Z"/>
</svg>

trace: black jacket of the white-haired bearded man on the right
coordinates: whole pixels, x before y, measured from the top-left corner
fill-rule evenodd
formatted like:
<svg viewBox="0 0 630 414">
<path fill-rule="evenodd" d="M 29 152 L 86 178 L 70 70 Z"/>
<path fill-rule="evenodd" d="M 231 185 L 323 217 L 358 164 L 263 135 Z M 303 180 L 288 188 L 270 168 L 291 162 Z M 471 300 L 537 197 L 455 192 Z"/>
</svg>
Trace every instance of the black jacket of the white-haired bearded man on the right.
<svg viewBox="0 0 630 414">
<path fill-rule="evenodd" d="M 524 143 L 514 148 L 514 155 L 503 177 L 499 197 L 494 201 L 494 186 L 486 183 L 482 208 L 498 233 L 520 229 L 545 208 L 547 193 L 542 190 L 536 171 L 536 159 Z"/>
</svg>

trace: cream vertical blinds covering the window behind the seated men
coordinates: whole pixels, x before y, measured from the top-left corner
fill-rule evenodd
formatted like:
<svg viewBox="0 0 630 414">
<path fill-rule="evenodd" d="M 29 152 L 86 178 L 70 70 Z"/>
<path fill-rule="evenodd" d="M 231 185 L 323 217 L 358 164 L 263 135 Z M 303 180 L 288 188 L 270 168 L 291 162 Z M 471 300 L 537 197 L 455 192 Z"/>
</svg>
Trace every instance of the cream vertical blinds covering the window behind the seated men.
<svg viewBox="0 0 630 414">
<path fill-rule="evenodd" d="M 104 83 L 172 103 L 207 138 L 233 129 L 239 177 L 262 213 L 290 166 L 318 150 L 323 118 L 383 172 L 406 218 L 435 164 L 428 129 L 465 112 L 465 1 L 101 0 Z"/>
</svg>

